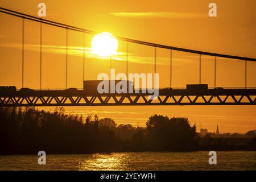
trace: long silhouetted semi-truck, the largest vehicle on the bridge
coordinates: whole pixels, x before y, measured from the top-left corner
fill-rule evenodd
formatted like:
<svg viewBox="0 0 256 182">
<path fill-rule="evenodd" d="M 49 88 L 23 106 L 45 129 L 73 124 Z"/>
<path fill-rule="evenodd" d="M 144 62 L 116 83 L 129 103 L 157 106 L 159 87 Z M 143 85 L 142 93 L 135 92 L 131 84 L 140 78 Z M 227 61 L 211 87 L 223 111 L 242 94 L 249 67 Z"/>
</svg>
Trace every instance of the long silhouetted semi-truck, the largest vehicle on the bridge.
<svg viewBox="0 0 256 182">
<path fill-rule="evenodd" d="M 100 84 L 100 82 L 102 82 L 104 80 L 84 80 L 84 90 L 86 91 L 86 93 L 89 93 L 89 94 L 97 94 L 98 93 L 98 84 Z M 122 88 L 122 85 L 121 85 L 121 89 L 123 91 L 123 93 L 129 93 L 129 88 L 133 88 L 134 90 L 134 87 L 133 87 L 133 82 L 132 81 L 129 81 L 129 80 L 105 80 L 105 85 L 108 85 L 108 90 L 107 92 L 108 93 L 111 93 L 110 91 L 110 86 L 112 84 L 114 84 L 114 93 L 117 93 L 116 90 L 115 90 L 115 87 L 117 86 L 117 84 L 119 82 L 123 82 L 122 84 L 127 84 L 127 88 Z M 104 89 L 104 87 L 102 88 Z"/>
</svg>

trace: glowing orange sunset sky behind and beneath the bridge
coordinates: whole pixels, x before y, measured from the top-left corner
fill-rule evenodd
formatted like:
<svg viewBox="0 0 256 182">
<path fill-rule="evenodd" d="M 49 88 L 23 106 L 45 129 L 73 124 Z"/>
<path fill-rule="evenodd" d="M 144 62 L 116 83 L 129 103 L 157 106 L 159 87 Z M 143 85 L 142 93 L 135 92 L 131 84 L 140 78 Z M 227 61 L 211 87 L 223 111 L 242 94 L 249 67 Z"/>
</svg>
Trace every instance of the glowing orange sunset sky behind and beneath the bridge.
<svg viewBox="0 0 256 182">
<path fill-rule="evenodd" d="M 0 6 L 37 15 L 42 1 L 0 1 Z M 217 17 L 208 16 L 212 1 L 43 1 L 46 19 L 67 23 L 97 32 L 123 36 L 168 46 L 197 49 L 228 55 L 256 57 L 256 2 L 214 1 Z M 21 86 L 21 19 L 0 14 L 0 85 Z M 86 50 L 92 35 L 86 35 Z M 69 32 L 68 87 L 82 88 L 82 33 Z M 118 42 L 118 55 L 113 67 L 125 72 L 125 43 Z M 43 26 L 43 88 L 65 87 L 65 30 Z M 87 51 L 89 52 L 89 51 Z M 86 52 L 85 79 L 96 80 L 109 73 L 109 60 L 91 57 Z M 129 45 L 129 72 L 154 72 L 154 48 Z M 169 85 L 170 51 L 158 49 L 157 69 L 160 87 Z M 173 87 L 199 82 L 199 56 L 173 52 Z M 24 86 L 39 88 L 39 24 L 25 22 Z M 213 86 L 213 57 L 202 56 L 202 82 Z M 256 63 L 247 64 L 247 86 L 256 87 Z M 11 76 L 6 76 L 11 75 Z M 244 63 L 218 59 L 217 86 L 244 86 Z M 43 109 L 53 109 L 44 107 Z M 98 114 L 112 117 L 118 123 L 144 126 L 154 114 L 188 117 L 191 123 L 201 122 L 209 131 L 246 132 L 256 129 L 255 106 L 111 106 L 65 107 L 72 113 Z"/>
</svg>

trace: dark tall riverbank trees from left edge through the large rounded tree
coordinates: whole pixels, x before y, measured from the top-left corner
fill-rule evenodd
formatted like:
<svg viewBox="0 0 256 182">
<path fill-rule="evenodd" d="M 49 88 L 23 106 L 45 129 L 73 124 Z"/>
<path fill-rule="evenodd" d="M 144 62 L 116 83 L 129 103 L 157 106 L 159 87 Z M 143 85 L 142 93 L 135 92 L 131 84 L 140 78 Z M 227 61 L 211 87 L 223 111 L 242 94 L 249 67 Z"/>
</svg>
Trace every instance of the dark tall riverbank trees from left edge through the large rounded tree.
<svg viewBox="0 0 256 182">
<path fill-rule="evenodd" d="M 65 114 L 63 107 L 0 107 L 0 154 L 81 154 L 117 151 L 189 151 L 199 144 L 187 118 L 152 115 L 146 128 L 117 125 L 97 115 Z"/>
</svg>

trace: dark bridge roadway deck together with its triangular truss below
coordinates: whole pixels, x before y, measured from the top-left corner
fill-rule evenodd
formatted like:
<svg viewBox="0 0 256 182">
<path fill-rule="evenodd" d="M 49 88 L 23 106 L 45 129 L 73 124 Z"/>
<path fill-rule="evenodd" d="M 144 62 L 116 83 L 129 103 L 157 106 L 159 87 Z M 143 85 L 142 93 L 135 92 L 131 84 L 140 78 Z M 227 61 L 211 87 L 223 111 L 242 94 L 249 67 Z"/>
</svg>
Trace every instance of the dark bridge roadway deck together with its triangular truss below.
<svg viewBox="0 0 256 182">
<path fill-rule="evenodd" d="M 85 90 L 30 90 L 0 92 L 0 106 L 117 106 L 117 105 L 256 105 L 256 89 L 159 89 L 149 93 L 98 94 Z"/>
</svg>

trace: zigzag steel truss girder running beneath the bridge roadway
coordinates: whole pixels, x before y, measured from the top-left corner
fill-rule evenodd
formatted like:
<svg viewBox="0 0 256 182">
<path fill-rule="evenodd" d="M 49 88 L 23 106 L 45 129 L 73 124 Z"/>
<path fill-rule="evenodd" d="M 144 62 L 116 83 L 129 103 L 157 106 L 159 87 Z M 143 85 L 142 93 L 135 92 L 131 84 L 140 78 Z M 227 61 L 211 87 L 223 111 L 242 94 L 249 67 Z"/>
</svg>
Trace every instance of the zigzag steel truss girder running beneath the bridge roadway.
<svg viewBox="0 0 256 182">
<path fill-rule="evenodd" d="M 160 95 L 150 100 L 146 94 L 97 96 L 0 96 L 0 106 L 121 106 L 121 105 L 256 105 L 256 95 L 183 94 Z"/>
</svg>

